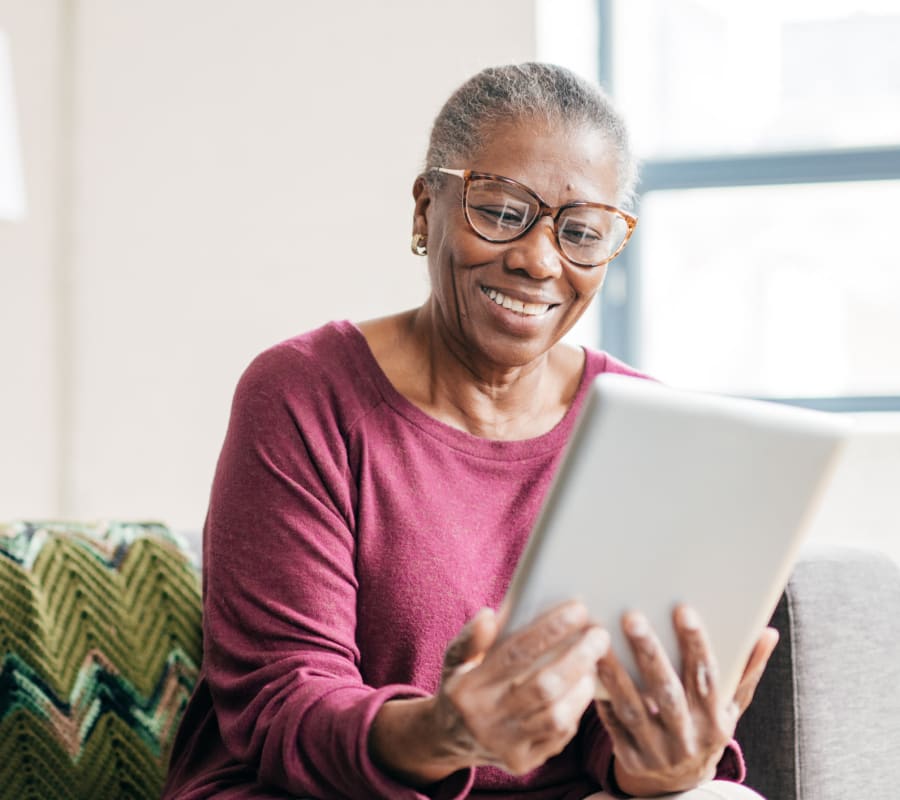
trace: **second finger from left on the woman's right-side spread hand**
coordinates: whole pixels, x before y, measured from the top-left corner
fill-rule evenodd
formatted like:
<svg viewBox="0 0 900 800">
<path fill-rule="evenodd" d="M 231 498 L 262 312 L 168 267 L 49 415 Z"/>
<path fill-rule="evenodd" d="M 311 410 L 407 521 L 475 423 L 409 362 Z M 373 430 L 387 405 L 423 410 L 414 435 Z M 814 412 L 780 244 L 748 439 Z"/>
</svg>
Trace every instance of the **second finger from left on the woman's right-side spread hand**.
<svg viewBox="0 0 900 800">
<path fill-rule="evenodd" d="M 651 716 L 658 716 L 669 730 L 686 730 L 689 718 L 684 687 L 646 617 L 634 612 L 626 614 L 622 630 L 641 673 L 645 703 Z"/>
</svg>

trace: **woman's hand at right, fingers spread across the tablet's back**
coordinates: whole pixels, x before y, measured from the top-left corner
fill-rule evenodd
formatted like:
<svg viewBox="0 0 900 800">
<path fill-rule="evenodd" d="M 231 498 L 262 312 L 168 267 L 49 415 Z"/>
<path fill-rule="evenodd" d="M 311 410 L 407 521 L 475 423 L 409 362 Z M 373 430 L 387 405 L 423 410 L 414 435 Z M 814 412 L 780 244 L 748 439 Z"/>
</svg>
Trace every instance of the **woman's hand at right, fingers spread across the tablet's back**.
<svg viewBox="0 0 900 800">
<path fill-rule="evenodd" d="M 778 642 L 773 628 L 763 631 L 734 697 L 722 697 L 715 659 L 696 613 L 679 607 L 674 624 L 681 678 L 647 620 L 637 613 L 627 614 L 622 627 L 643 677 L 643 691 L 612 651 L 597 665 L 609 694 L 597 701 L 597 713 L 612 738 L 616 782 L 635 797 L 685 791 L 714 777 Z"/>
</svg>

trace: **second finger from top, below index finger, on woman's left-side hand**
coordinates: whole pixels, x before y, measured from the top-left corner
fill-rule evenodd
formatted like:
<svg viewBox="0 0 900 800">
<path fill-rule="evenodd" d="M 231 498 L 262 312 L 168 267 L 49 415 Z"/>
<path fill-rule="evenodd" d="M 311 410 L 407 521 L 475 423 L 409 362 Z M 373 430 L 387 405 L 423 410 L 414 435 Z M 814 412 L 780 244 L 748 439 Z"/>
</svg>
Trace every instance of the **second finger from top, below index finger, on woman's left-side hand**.
<svg viewBox="0 0 900 800">
<path fill-rule="evenodd" d="M 609 650 L 609 634 L 591 626 L 558 645 L 554 655 L 540 660 L 510 684 L 510 693 L 526 707 L 545 709 L 568 694 L 584 678 L 591 694 L 596 687 L 597 662 Z"/>
</svg>

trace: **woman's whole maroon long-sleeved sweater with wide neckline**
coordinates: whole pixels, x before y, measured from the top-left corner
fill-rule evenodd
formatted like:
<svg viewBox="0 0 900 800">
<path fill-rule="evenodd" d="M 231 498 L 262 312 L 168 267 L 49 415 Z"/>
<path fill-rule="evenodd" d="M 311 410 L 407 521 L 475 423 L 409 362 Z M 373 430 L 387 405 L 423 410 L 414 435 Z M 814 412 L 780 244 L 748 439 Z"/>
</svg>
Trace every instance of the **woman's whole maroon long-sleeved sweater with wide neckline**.
<svg viewBox="0 0 900 800">
<path fill-rule="evenodd" d="M 523 441 L 444 425 L 390 384 L 360 331 L 326 325 L 259 356 L 235 393 L 204 532 L 204 657 L 165 798 L 582 798 L 610 744 L 575 739 L 513 777 L 458 772 L 428 791 L 369 758 L 386 700 L 435 691 L 448 642 L 499 606 L 592 378 Z M 599 570 L 598 570 L 599 571 Z M 740 777 L 736 751 L 720 776 Z"/>
</svg>

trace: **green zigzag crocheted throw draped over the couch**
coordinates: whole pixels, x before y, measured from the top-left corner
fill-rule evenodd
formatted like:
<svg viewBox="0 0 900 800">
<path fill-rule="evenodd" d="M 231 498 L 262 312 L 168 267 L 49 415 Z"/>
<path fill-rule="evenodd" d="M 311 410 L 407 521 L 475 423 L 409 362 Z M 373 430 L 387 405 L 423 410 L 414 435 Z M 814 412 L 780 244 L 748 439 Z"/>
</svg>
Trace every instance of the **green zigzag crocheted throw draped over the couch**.
<svg viewBox="0 0 900 800">
<path fill-rule="evenodd" d="M 200 653 L 164 526 L 0 525 L 0 800 L 158 798 Z"/>
</svg>

